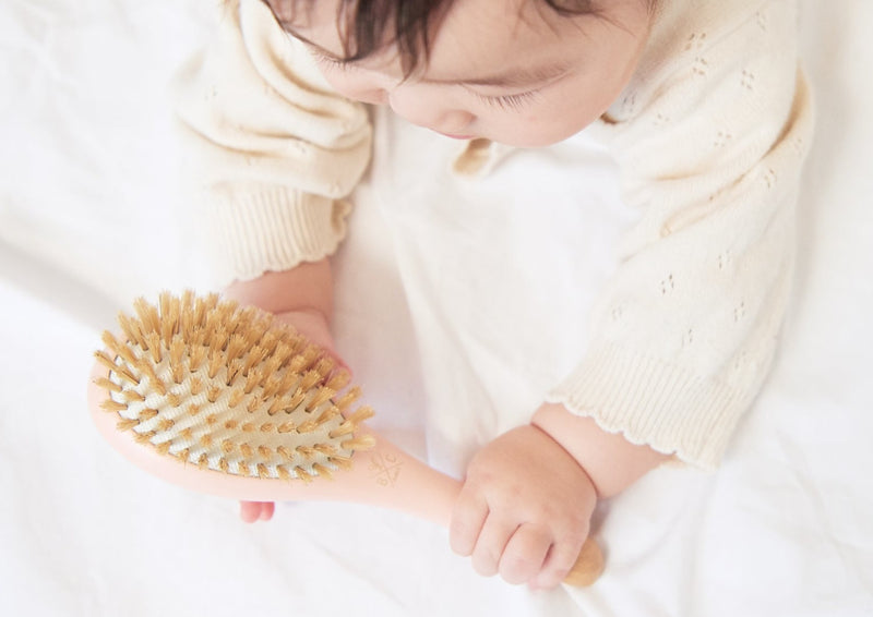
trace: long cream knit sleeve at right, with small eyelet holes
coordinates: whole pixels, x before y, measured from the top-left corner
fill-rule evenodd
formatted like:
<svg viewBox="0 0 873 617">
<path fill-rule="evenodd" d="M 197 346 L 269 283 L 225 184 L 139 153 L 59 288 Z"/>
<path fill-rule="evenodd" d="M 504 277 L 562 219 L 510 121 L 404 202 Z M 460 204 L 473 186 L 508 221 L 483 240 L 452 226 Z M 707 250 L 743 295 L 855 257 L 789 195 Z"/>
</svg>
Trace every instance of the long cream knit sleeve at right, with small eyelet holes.
<svg viewBox="0 0 873 617">
<path fill-rule="evenodd" d="M 793 2 L 665 2 L 593 130 L 638 219 L 590 347 L 549 395 L 629 440 L 717 467 L 772 364 L 812 129 Z"/>
</svg>

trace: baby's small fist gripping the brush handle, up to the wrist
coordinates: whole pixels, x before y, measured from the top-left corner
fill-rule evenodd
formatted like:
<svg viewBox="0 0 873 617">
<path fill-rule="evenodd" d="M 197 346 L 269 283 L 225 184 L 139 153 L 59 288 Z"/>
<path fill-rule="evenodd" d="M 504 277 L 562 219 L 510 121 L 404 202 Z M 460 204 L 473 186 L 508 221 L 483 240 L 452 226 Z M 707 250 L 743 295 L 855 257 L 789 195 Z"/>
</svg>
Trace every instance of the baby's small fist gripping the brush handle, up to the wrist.
<svg viewBox="0 0 873 617">
<path fill-rule="evenodd" d="M 597 493 L 585 470 L 536 426 L 482 448 L 467 469 L 450 528 L 452 549 L 482 576 L 557 586 L 588 536 Z"/>
</svg>

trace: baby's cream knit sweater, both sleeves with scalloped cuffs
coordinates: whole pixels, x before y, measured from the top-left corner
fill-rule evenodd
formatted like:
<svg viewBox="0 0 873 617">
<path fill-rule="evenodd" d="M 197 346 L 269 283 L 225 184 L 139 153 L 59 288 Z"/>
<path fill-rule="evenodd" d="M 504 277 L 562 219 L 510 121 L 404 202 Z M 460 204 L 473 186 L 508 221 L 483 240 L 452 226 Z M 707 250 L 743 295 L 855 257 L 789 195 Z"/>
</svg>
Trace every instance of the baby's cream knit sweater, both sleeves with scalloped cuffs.
<svg viewBox="0 0 873 617">
<path fill-rule="evenodd" d="M 703 468 L 760 390 L 789 297 L 812 131 L 796 29 L 793 0 L 662 0 L 632 82 L 589 129 L 641 219 L 549 400 Z M 367 109 L 332 94 L 261 0 L 230 3 L 178 84 L 224 280 L 331 254 L 370 156 Z"/>
</svg>

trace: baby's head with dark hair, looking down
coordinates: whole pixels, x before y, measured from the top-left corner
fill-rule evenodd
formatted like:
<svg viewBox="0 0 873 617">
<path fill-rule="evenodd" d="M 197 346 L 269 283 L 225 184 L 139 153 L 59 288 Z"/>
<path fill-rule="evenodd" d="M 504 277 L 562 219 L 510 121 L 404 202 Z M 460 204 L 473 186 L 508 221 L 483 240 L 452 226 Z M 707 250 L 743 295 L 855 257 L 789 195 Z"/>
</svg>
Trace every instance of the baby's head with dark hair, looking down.
<svg viewBox="0 0 873 617">
<path fill-rule="evenodd" d="M 656 0 L 264 0 L 344 96 L 516 146 L 564 140 L 627 84 Z"/>
</svg>

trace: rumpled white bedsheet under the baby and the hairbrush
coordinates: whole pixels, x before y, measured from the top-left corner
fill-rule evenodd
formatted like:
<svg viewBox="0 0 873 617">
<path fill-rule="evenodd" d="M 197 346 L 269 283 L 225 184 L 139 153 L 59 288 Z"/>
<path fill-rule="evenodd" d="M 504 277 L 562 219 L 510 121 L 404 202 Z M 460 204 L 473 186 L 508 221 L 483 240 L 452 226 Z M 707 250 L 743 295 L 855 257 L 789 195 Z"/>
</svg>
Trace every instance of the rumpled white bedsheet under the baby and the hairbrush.
<svg viewBox="0 0 873 617">
<path fill-rule="evenodd" d="M 396 512 L 288 504 L 243 525 L 235 504 L 146 476 L 93 430 L 99 330 L 135 295 L 207 285 L 174 190 L 164 85 L 216 1 L 0 3 L 3 614 L 873 615 L 873 3 L 802 2 L 820 113 L 797 302 L 723 465 L 661 469 L 603 505 L 602 579 L 531 594 L 479 578 L 444 530 Z M 584 135 L 464 182 L 439 165 L 456 144 L 381 114 L 376 125 L 392 148 L 337 256 L 338 346 L 372 424 L 459 474 L 572 366 L 567 341 L 584 339 L 579 315 L 632 215 Z M 584 184 L 586 208 L 538 201 L 579 156 L 591 177 L 565 194 Z M 393 177 L 392 157 L 420 158 L 421 178 Z M 519 166 L 542 183 L 522 183 Z M 559 225 L 538 226 L 531 207 Z M 537 261 L 564 227 L 585 241 L 559 239 Z M 551 305 L 570 276 L 585 285 Z"/>
</svg>

